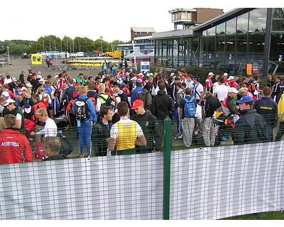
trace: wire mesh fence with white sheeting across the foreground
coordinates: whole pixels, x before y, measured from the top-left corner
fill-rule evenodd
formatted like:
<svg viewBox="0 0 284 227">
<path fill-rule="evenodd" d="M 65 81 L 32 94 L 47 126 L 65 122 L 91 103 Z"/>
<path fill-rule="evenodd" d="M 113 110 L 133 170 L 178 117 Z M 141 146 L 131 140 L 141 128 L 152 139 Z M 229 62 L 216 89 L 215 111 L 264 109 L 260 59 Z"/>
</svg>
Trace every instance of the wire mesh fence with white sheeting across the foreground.
<svg viewBox="0 0 284 227">
<path fill-rule="evenodd" d="M 38 146 L 40 136 L 30 138 L 33 152 L 38 147 L 37 154 L 60 150 L 68 159 L 43 162 L 33 154 L 33 162 L 0 165 L 0 218 L 219 219 L 283 210 L 283 140 L 270 141 L 263 128 L 253 126 L 258 129 L 255 143 L 238 144 L 241 133 L 228 126 L 221 132 L 226 140 L 218 129 L 221 141 L 207 147 L 197 122 L 192 146 L 186 148 L 176 133 L 177 123 L 166 120 L 164 131 L 162 122 L 141 123 L 148 150 L 129 149 L 133 155 L 108 153 L 104 142 L 111 143 L 106 140 L 109 134 L 96 126 L 90 158 L 78 158 L 77 128 L 58 129 L 60 142 L 45 138 Z M 279 123 L 273 138 L 278 128 L 281 132 Z M 121 130 L 125 136 L 116 139 L 116 148 L 132 143 L 133 133 L 138 133 L 132 126 L 114 131 Z M 248 134 L 246 128 L 241 132 Z M 160 133 L 165 133 L 160 152 L 152 153 L 159 150 Z M 97 153 L 98 145 L 104 153 Z"/>
</svg>

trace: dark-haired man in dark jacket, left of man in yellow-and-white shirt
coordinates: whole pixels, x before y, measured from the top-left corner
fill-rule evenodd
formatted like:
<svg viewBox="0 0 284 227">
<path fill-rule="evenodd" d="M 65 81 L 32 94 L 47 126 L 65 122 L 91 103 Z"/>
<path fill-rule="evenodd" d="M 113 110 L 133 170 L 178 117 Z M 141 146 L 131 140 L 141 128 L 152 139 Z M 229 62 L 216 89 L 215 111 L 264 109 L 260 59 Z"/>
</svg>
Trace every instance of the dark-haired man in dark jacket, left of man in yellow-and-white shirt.
<svg viewBox="0 0 284 227">
<path fill-rule="evenodd" d="M 99 111 L 102 119 L 92 128 L 92 151 L 95 156 L 107 156 L 108 143 L 111 131 L 112 110 L 110 106 L 103 106 Z"/>
</svg>

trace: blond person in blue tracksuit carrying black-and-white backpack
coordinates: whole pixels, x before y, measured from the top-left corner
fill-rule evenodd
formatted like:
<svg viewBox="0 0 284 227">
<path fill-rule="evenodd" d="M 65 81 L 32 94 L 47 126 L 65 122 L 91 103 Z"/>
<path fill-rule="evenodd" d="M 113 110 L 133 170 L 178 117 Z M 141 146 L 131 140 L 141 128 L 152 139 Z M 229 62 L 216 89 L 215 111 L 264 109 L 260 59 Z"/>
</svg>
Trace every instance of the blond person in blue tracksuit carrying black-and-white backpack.
<svg viewBox="0 0 284 227">
<path fill-rule="evenodd" d="M 87 156 L 89 158 L 91 150 L 92 123 L 97 121 L 97 114 L 91 99 L 88 99 L 87 97 L 87 87 L 81 86 L 78 87 L 77 90 L 80 93 L 80 96 L 75 99 L 72 112 L 75 114 L 77 119 L 80 140 L 80 156 L 83 157 L 84 141 L 86 141 Z"/>
</svg>

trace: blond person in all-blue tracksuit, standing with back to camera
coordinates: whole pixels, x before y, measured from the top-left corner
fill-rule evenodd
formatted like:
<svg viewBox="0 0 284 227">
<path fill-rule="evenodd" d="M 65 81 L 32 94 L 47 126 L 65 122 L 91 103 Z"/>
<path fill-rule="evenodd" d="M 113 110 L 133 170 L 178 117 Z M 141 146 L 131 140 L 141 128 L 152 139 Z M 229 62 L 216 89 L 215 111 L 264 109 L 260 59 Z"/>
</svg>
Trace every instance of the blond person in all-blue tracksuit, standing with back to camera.
<svg viewBox="0 0 284 227">
<path fill-rule="evenodd" d="M 97 121 L 97 114 L 94 109 L 92 100 L 87 97 L 87 87 L 81 86 L 78 88 L 80 96 L 75 99 L 74 105 L 72 107 L 72 112 L 77 116 L 76 113 L 76 101 L 84 100 L 87 103 L 88 114 L 87 119 L 84 121 L 77 120 L 77 127 L 79 130 L 79 141 L 80 141 L 80 156 L 83 157 L 84 141 L 87 145 L 87 156 L 89 158 L 91 150 L 91 133 L 92 133 L 92 123 Z"/>
</svg>

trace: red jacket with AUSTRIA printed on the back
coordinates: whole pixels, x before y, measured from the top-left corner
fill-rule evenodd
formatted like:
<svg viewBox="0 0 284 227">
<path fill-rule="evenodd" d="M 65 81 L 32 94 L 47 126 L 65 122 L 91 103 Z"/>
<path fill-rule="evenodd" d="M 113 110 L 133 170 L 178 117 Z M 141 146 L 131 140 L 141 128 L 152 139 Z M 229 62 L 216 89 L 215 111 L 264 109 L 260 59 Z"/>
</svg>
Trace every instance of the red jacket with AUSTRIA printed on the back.
<svg viewBox="0 0 284 227">
<path fill-rule="evenodd" d="M 12 129 L 0 131 L 0 164 L 31 161 L 32 150 L 26 136 Z"/>
</svg>

